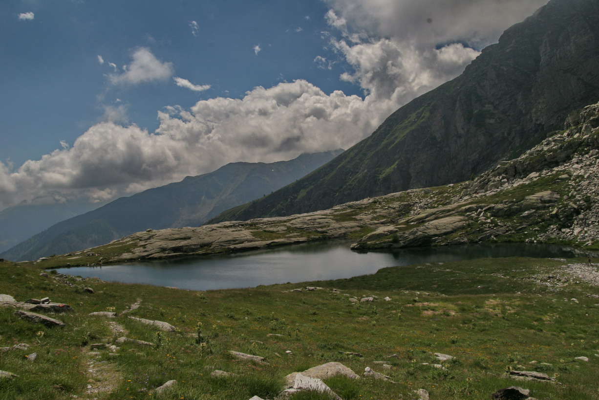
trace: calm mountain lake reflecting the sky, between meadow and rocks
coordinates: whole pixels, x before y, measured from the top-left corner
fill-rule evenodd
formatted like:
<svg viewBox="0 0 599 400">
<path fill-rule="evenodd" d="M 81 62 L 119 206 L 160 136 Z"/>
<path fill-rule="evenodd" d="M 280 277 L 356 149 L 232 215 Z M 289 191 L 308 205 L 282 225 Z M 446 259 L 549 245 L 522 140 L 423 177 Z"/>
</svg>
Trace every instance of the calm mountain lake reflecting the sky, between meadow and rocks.
<svg viewBox="0 0 599 400">
<path fill-rule="evenodd" d="M 313 242 L 211 257 L 60 268 L 58 272 L 96 276 L 104 281 L 210 290 L 350 278 L 374 273 L 384 267 L 472 258 L 580 256 L 579 251 L 565 246 L 524 243 L 409 248 L 367 253 L 350 250 L 350 243 L 347 240 Z"/>
</svg>

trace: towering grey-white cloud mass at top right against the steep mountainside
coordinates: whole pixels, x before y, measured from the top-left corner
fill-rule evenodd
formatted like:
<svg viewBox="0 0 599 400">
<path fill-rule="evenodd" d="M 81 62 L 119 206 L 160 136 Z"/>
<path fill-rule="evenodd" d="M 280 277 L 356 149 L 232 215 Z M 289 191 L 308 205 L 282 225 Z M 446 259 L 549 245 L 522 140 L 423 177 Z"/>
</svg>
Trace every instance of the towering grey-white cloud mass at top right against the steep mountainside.
<svg viewBox="0 0 599 400">
<path fill-rule="evenodd" d="M 323 0 L 333 49 L 353 68 L 341 75 L 393 109 L 458 76 L 547 0 Z M 321 68 L 321 59 L 315 59 Z"/>
</svg>

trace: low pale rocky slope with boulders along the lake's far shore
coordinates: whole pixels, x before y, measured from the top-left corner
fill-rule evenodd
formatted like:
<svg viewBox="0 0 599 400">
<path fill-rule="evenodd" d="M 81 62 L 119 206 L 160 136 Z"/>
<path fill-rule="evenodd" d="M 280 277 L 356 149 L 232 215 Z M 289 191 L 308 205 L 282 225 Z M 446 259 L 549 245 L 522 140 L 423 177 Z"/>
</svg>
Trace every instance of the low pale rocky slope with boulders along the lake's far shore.
<svg viewBox="0 0 599 400">
<path fill-rule="evenodd" d="M 292 216 L 144 231 L 41 265 L 246 251 L 352 237 L 368 250 L 479 242 L 599 249 L 599 103 L 573 112 L 521 157 L 459 184 L 412 189 Z"/>
</svg>

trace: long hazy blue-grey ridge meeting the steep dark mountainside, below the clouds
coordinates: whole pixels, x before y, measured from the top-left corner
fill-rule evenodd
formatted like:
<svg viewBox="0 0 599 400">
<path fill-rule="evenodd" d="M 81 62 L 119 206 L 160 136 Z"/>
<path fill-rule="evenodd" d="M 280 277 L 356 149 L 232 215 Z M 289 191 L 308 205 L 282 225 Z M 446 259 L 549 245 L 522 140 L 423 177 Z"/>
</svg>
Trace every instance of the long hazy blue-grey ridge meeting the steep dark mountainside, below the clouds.
<svg viewBox="0 0 599 400">
<path fill-rule="evenodd" d="M 223 210 L 264 197 L 322 166 L 343 150 L 302 154 L 277 163 L 231 163 L 181 182 L 111 201 L 66 219 L 0 254 L 33 260 L 102 245 L 147 230 L 198 226 Z"/>
</svg>

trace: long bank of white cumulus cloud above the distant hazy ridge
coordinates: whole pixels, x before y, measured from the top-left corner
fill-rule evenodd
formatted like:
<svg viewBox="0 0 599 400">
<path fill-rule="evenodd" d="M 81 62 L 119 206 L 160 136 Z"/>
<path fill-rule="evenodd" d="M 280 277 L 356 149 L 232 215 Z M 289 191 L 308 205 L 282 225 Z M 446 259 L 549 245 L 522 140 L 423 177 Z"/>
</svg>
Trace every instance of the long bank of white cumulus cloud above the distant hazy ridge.
<svg viewBox="0 0 599 400">
<path fill-rule="evenodd" d="M 384 118 L 373 103 L 340 91 L 325 94 L 305 80 L 258 87 L 241 99 L 202 100 L 191 109 L 165 107 L 158 116 L 154 133 L 101 122 L 70 148 L 26 161 L 16 171 L 0 163 L 0 207 L 43 191 L 103 201 L 229 162 L 347 148 Z"/>
</svg>

